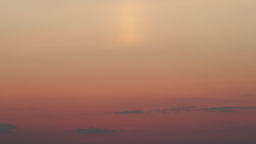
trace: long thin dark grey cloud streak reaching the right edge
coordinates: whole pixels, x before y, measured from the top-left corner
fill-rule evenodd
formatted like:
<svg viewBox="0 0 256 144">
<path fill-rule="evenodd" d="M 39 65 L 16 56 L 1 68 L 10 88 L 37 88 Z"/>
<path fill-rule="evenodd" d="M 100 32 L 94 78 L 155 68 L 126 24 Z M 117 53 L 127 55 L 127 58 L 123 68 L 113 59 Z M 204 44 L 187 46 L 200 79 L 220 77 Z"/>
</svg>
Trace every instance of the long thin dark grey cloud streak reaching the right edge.
<svg viewBox="0 0 256 144">
<path fill-rule="evenodd" d="M 199 110 L 206 110 L 208 112 L 239 112 L 237 110 L 256 109 L 256 107 L 210 107 Z"/>
</svg>

